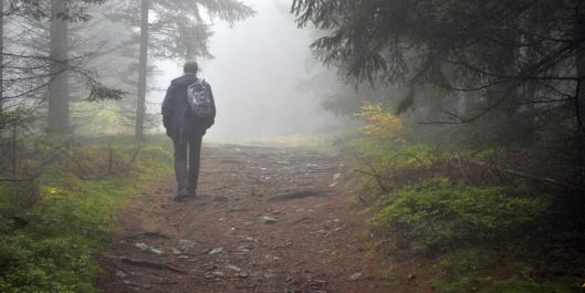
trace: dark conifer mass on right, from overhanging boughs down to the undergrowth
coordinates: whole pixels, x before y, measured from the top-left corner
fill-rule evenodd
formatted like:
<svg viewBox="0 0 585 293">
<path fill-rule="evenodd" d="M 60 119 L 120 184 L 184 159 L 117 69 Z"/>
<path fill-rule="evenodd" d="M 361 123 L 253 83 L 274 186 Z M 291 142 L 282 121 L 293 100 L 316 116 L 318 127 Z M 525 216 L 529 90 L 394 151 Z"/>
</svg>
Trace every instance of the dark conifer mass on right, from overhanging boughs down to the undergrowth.
<svg viewBox="0 0 585 293">
<path fill-rule="evenodd" d="M 583 1 L 294 0 L 292 12 L 356 85 L 408 87 L 388 94 L 399 113 L 467 148 L 537 146 L 550 174 L 585 186 Z"/>
</svg>

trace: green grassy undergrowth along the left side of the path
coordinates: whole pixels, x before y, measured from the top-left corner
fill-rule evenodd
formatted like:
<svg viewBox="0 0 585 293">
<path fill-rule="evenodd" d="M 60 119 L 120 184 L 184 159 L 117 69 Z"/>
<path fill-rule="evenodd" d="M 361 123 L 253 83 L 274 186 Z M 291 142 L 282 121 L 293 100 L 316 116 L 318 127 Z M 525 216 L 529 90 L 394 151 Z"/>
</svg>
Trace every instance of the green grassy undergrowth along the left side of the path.
<svg viewBox="0 0 585 293">
<path fill-rule="evenodd" d="M 114 213 L 127 196 L 169 171 L 169 148 L 163 142 L 154 139 L 139 151 L 127 138 L 75 143 L 67 155 L 60 150 L 36 180 L 1 182 L 0 292 L 95 292 L 96 257 L 104 237 L 115 228 Z M 56 142 L 44 143 L 55 146 Z M 117 164 L 98 179 L 83 178 L 87 170 L 103 169 L 91 165 L 109 158 L 109 150 L 117 163 L 128 166 Z M 74 164 L 79 154 L 92 161 Z M 85 169 L 83 176 L 80 168 Z"/>
</svg>

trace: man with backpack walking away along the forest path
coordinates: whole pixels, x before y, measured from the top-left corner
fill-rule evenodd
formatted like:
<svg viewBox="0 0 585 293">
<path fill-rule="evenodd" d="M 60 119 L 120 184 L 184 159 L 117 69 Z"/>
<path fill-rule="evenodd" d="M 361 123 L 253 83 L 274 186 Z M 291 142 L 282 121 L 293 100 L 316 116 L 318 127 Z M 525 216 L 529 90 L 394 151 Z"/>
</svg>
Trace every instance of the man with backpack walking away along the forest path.
<svg viewBox="0 0 585 293">
<path fill-rule="evenodd" d="M 197 196 L 201 139 L 216 118 L 211 86 L 197 77 L 199 66 L 188 61 L 184 75 L 175 79 L 163 102 L 163 125 L 173 139 L 177 193 L 180 201 Z"/>
</svg>

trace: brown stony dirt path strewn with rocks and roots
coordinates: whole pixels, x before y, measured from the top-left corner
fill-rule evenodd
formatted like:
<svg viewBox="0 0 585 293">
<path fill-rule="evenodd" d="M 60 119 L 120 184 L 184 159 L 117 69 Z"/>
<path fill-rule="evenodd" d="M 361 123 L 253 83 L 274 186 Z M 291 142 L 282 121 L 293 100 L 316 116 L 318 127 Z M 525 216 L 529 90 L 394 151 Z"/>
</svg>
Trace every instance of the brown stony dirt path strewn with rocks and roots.
<svg viewBox="0 0 585 293">
<path fill-rule="evenodd" d="M 169 161 L 170 164 L 170 161 Z M 341 160 L 299 148 L 203 147 L 199 196 L 173 175 L 134 196 L 102 258 L 103 292 L 387 292 Z"/>
</svg>

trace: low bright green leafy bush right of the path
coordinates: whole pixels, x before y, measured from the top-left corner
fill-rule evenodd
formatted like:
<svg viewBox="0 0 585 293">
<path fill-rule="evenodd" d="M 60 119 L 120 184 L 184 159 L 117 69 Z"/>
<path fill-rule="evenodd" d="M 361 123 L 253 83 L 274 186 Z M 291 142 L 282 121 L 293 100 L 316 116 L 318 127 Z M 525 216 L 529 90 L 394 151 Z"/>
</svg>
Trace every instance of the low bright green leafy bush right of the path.
<svg viewBox="0 0 585 293">
<path fill-rule="evenodd" d="M 500 187 L 471 187 L 433 178 L 388 195 L 374 219 L 400 248 L 437 253 L 498 244 L 525 231 L 546 210 L 540 198 L 514 197 Z"/>
</svg>

